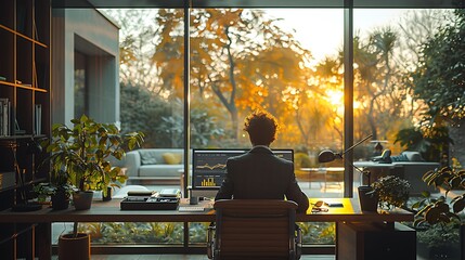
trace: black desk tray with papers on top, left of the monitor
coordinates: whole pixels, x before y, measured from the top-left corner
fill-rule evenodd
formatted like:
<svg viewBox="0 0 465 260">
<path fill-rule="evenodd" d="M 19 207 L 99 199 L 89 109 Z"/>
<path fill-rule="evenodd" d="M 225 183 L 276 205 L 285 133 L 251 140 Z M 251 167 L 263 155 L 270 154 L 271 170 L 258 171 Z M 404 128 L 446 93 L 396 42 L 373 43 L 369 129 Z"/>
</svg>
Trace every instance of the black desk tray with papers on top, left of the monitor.
<svg viewBox="0 0 465 260">
<path fill-rule="evenodd" d="M 121 210 L 176 210 L 179 197 L 129 196 L 121 200 Z"/>
</svg>

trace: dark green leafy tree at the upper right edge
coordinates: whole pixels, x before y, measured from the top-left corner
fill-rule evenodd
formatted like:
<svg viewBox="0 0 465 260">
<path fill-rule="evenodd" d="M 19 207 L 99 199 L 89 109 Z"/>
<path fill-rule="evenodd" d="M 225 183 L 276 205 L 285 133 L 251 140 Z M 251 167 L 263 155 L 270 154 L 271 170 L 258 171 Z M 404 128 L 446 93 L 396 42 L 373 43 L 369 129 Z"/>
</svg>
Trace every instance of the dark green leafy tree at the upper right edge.
<svg viewBox="0 0 465 260">
<path fill-rule="evenodd" d="M 422 48 L 418 68 L 412 74 L 415 98 L 428 108 L 430 125 L 457 123 L 465 117 L 465 10 L 457 9 Z"/>
</svg>

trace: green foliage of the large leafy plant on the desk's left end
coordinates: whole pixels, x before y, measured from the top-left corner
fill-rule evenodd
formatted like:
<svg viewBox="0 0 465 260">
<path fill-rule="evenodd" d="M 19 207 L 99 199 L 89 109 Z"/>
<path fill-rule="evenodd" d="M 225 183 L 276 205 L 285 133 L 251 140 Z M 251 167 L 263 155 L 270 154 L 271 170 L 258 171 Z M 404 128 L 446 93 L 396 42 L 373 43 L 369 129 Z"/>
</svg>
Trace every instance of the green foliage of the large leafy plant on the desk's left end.
<svg viewBox="0 0 465 260">
<path fill-rule="evenodd" d="M 119 167 L 113 167 L 113 158 L 121 159 L 126 150 L 140 146 L 143 133 L 122 134 L 114 123 L 96 122 L 82 115 L 72 119 L 73 128 L 63 123 L 52 127 L 52 139 L 42 145 L 51 153 L 52 172 L 66 171 L 68 182 L 80 191 L 102 191 L 125 182 Z"/>
</svg>

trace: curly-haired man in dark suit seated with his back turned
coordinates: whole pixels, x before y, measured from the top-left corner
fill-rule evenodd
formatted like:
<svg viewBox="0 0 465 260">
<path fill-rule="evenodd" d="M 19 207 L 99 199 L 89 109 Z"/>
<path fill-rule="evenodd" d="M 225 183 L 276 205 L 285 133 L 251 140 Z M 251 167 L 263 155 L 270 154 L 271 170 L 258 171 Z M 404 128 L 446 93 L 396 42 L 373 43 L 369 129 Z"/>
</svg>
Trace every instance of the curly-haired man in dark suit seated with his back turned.
<svg viewBox="0 0 465 260">
<path fill-rule="evenodd" d="M 245 119 L 253 148 L 227 161 L 227 177 L 215 199 L 284 199 L 298 204 L 297 212 L 309 207 L 300 190 L 292 161 L 277 158 L 270 150 L 276 138 L 277 121 L 267 112 L 255 112 Z"/>
</svg>

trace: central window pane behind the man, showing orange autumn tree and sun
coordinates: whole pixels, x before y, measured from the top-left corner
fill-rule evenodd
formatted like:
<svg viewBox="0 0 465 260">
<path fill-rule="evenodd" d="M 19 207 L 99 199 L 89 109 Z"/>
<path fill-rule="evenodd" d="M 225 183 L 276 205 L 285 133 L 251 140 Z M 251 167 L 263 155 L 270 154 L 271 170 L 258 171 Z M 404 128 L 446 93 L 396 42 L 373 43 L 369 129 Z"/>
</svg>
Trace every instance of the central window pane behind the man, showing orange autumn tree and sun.
<svg viewBox="0 0 465 260">
<path fill-rule="evenodd" d="M 306 194 L 341 197 L 341 162 L 317 157 L 343 143 L 344 74 L 326 70 L 339 62 L 343 21 L 338 9 L 193 10 L 192 147 L 250 148 L 244 118 L 266 109 L 281 127 L 271 147 L 294 150 Z"/>
</svg>

